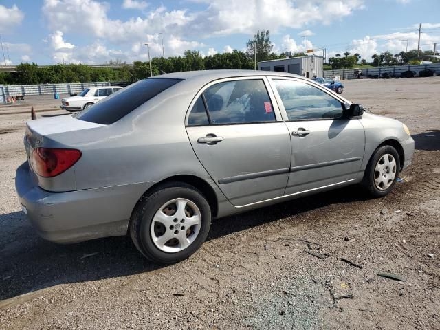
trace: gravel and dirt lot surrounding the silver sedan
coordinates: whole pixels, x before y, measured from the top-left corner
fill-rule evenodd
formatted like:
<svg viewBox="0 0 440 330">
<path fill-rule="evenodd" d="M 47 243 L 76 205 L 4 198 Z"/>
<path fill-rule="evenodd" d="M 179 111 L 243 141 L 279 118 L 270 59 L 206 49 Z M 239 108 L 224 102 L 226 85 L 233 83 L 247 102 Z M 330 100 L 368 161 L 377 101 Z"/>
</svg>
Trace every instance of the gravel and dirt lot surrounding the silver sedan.
<svg viewBox="0 0 440 330">
<path fill-rule="evenodd" d="M 0 328 L 439 329 L 440 77 L 344 84 L 415 138 L 391 195 L 351 187 L 219 219 L 199 252 L 168 267 L 125 237 L 36 236 L 14 191 L 28 115 L 0 115 Z"/>
</svg>

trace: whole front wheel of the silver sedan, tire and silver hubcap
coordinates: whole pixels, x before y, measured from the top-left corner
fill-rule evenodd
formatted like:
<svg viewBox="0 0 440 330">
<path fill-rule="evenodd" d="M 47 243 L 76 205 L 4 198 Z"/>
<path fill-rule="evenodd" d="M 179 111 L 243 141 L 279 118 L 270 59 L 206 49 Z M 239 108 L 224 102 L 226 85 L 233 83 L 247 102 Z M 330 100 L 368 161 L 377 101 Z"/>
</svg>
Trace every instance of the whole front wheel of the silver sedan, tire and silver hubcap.
<svg viewBox="0 0 440 330">
<path fill-rule="evenodd" d="M 393 146 L 377 148 L 364 173 L 363 186 L 373 197 L 388 195 L 399 176 L 399 154 Z"/>
</svg>

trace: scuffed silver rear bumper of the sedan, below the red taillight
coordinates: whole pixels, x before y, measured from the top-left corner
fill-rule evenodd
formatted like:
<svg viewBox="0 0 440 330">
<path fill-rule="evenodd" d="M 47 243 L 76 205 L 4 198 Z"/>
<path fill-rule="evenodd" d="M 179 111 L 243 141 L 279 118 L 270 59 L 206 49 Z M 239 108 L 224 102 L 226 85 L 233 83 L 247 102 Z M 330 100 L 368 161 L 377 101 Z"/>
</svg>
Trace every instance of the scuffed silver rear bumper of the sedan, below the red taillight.
<svg viewBox="0 0 440 330">
<path fill-rule="evenodd" d="M 43 239 L 75 243 L 125 235 L 144 185 L 48 192 L 34 183 L 28 162 L 17 169 L 15 187 L 28 219 Z"/>
</svg>

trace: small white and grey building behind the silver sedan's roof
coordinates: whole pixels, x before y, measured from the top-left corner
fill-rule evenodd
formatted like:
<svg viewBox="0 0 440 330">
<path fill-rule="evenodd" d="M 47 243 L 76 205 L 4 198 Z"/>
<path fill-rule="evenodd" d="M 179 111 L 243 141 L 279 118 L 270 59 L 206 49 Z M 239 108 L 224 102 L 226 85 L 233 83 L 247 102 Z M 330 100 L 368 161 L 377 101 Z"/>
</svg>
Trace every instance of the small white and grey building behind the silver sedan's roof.
<svg viewBox="0 0 440 330">
<path fill-rule="evenodd" d="M 263 71 L 289 72 L 312 78 L 313 76 L 322 77 L 324 74 L 323 65 L 323 56 L 311 55 L 261 61 L 259 62 L 259 69 Z"/>
</svg>

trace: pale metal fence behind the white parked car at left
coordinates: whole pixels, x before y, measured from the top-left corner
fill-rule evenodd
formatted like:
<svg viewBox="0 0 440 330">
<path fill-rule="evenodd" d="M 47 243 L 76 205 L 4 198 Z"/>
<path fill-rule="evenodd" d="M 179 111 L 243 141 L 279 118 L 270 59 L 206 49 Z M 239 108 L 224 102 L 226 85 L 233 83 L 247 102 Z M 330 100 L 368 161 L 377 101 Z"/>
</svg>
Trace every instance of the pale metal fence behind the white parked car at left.
<svg viewBox="0 0 440 330">
<path fill-rule="evenodd" d="M 10 85 L 0 86 L 3 95 L 8 96 L 30 96 L 30 95 L 49 95 L 49 94 L 73 94 L 80 93 L 85 88 L 97 86 L 109 86 L 109 82 L 94 83 L 72 83 L 72 84 L 41 84 L 41 85 Z M 2 91 L 0 91 L 0 95 Z M 0 97 L 1 102 L 1 97 Z M 5 102 L 3 100 L 3 102 Z"/>
</svg>

